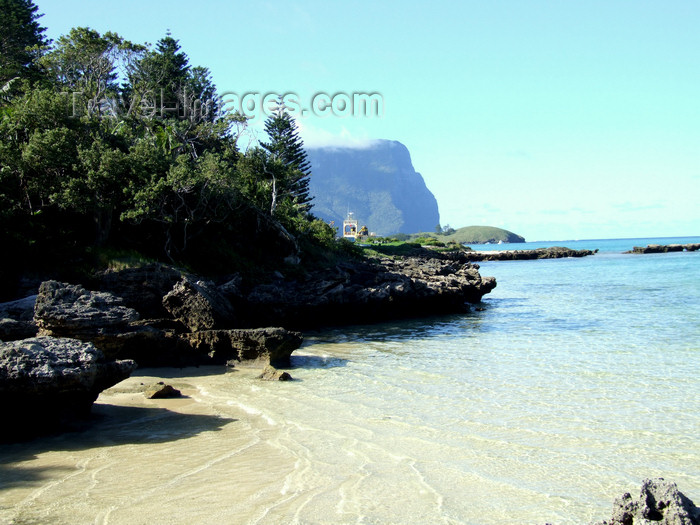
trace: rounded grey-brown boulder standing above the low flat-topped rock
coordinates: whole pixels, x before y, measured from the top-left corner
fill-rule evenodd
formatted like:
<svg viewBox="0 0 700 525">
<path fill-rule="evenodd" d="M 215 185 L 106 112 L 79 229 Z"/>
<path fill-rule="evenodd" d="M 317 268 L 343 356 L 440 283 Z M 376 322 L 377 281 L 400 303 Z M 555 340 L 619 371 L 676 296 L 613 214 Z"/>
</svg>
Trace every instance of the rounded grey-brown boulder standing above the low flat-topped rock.
<svg viewBox="0 0 700 525">
<path fill-rule="evenodd" d="M 183 278 L 163 297 L 165 309 L 190 331 L 234 326 L 231 303 L 214 283 Z"/>
</svg>

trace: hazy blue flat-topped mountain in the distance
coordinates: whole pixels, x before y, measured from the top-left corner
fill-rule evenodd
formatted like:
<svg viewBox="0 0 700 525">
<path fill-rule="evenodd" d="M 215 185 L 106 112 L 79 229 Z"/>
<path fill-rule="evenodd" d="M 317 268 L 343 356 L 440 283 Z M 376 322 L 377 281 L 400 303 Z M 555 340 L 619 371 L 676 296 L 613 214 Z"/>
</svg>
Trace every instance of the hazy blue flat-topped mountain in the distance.
<svg viewBox="0 0 700 525">
<path fill-rule="evenodd" d="M 350 211 L 377 235 L 434 231 L 440 224 L 435 196 L 400 142 L 307 148 L 306 153 L 314 215 L 340 227 Z"/>
</svg>

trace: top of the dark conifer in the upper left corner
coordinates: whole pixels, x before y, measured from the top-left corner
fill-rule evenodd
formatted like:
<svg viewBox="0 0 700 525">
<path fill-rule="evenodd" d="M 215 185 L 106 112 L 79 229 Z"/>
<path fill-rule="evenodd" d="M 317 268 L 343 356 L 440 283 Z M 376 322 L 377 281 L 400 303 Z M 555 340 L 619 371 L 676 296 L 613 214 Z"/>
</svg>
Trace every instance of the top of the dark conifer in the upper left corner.
<svg viewBox="0 0 700 525">
<path fill-rule="evenodd" d="M 36 79 L 34 60 L 47 45 L 46 28 L 32 0 L 0 0 L 0 89 L 9 94 L 20 78 Z M 3 97 L 7 99 L 7 96 Z"/>
</svg>

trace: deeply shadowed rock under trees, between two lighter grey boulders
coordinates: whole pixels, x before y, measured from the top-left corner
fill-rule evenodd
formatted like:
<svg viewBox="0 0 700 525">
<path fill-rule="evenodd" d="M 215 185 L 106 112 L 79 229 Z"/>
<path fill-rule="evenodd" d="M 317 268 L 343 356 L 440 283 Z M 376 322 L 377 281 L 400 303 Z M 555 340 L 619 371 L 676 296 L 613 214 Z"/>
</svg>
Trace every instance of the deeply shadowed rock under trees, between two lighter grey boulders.
<svg viewBox="0 0 700 525">
<path fill-rule="evenodd" d="M 182 279 L 182 272 L 165 264 L 153 263 L 122 270 L 106 270 L 96 276 L 96 287 L 124 301 L 124 305 L 139 312 L 142 318 L 159 319 L 168 316 L 163 297 Z"/>
</svg>

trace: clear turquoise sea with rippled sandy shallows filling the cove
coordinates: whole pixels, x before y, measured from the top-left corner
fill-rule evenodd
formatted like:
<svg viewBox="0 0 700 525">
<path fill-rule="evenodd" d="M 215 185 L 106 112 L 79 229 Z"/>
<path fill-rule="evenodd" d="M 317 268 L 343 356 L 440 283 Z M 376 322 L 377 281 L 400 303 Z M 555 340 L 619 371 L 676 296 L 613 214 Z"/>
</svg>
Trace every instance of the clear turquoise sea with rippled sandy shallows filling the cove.
<svg viewBox="0 0 700 525">
<path fill-rule="evenodd" d="M 700 237 L 481 263 L 470 313 L 308 332 L 295 381 L 145 369 L 0 449 L 4 523 L 588 524 L 647 477 L 700 503 Z M 165 380 L 177 400 L 145 400 Z"/>
</svg>

